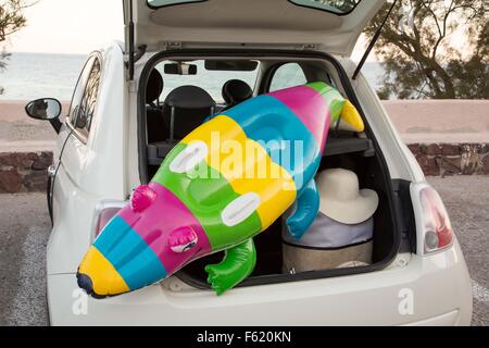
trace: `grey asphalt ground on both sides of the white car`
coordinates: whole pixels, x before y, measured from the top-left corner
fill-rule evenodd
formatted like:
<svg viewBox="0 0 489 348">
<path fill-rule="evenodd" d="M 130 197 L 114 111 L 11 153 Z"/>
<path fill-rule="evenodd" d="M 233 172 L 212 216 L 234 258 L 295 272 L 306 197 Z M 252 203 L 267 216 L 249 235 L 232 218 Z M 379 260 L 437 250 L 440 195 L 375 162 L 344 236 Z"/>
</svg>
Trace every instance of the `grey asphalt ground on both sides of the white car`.
<svg viewBox="0 0 489 348">
<path fill-rule="evenodd" d="M 489 177 L 431 178 L 465 253 L 474 325 L 489 325 Z M 0 195 L 0 325 L 47 325 L 45 253 L 50 222 L 43 195 Z"/>
</svg>

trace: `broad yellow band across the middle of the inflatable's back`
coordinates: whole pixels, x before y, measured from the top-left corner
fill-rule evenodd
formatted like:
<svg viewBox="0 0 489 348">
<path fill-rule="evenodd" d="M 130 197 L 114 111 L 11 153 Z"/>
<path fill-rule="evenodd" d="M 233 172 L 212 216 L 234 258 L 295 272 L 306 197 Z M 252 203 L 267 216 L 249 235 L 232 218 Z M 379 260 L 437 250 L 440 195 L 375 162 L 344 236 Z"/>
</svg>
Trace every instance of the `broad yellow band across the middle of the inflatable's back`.
<svg viewBox="0 0 489 348">
<path fill-rule="evenodd" d="M 256 192 L 262 228 L 268 228 L 293 203 L 297 188 L 291 175 L 274 163 L 265 149 L 249 139 L 237 122 L 221 115 L 202 125 L 183 144 L 202 141 L 209 147 L 208 164 L 221 172 L 238 195 Z"/>
</svg>

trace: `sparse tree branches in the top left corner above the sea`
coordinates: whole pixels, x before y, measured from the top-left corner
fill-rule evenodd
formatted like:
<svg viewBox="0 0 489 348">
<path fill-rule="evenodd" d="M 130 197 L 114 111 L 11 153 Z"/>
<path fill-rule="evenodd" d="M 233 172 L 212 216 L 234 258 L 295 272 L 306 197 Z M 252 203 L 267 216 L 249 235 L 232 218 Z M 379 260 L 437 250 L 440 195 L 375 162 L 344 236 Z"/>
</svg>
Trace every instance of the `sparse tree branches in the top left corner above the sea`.
<svg viewBox="0 0 489 348">
<path fill-rule="evenodd" d="M 24 10 L 33 4 L 26 0 L 0 0 L 0 71 L 7 67 L 10 57 L 5 51 L 5 40 L 26 25 Z M 0 95 L 2 91 L 0 87 Z"/>
</svg>

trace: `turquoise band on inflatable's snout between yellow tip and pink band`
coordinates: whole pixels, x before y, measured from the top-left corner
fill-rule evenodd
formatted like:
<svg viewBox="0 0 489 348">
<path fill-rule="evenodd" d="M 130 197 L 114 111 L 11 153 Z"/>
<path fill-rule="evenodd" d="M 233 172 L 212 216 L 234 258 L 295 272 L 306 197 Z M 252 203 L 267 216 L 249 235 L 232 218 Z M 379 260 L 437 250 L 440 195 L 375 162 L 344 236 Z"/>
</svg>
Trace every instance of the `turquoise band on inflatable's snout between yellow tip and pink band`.
<svg viewBox="0 0 489 348">
<path fill-rule="evenodd" d="M 121 216 L 110 222 L 95 247 L 112 263 L 131 290 L 167 276 L 154 251 Z"/>
</svg>

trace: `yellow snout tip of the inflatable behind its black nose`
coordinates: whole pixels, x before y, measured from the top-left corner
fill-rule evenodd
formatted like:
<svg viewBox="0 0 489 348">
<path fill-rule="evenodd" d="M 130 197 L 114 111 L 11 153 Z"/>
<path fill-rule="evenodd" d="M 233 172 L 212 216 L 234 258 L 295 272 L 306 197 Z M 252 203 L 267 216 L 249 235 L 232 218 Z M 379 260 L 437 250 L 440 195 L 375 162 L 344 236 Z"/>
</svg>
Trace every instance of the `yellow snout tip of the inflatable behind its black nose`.
<svg viewBox="0 0 489 348">
<path fill-rule="evenodd" d="M 130 290 L 112 263 L 96 247 L 88 250 L 78 273 L 90 277 L 93 291 L 99 296 L 120 295 Z"/>
</svg>

